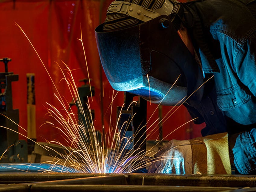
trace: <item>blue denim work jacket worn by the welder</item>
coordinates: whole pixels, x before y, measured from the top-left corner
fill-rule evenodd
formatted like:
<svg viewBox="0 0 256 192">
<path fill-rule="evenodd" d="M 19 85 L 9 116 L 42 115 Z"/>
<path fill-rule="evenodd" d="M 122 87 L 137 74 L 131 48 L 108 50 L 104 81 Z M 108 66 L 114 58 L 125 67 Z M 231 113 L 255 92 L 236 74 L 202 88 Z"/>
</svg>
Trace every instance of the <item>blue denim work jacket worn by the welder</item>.
<svg viewBox="0 0 256 192">
<path fill-rule="evenodd" d="M 235 128 L 236 132 L 240 132 L 232 149 L 235 166 L 242 174 L 254 173 L 256 1 L 205 0 L 186 5 L 185 19 L 190 26 L 189 32 L 203 72 L 214 75 L 214 91 L 205 98 L 211 98 L 211 105 L 215 106 L 221 123 L 214 122 L 217 128 L 210 127 L 215 129 L 213 133 L 225 131 L 225 127 L 230 132 Z M 215 121 L 202 110 L 202 105 L 194 108 L 203 117 L 206 126 Z M 250 131 L 245 132 L 248 127 Z M 208 130 L 208 133 L 211 132 Z"/>
</svg>

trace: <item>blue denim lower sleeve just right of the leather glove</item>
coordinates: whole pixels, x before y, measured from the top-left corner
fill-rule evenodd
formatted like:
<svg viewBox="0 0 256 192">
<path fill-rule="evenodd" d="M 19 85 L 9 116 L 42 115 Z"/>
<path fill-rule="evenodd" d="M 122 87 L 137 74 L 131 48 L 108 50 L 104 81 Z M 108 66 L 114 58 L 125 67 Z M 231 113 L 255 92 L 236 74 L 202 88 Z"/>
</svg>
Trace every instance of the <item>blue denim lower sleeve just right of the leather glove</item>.
<svg viewBox="0 0 256 192">
<path fill-rule="evenodd" d="M 255 174 L 256 172 L 256 129 L 239 133 L 232 149 L 234 164 L 241 174 Z"/>
</svg>

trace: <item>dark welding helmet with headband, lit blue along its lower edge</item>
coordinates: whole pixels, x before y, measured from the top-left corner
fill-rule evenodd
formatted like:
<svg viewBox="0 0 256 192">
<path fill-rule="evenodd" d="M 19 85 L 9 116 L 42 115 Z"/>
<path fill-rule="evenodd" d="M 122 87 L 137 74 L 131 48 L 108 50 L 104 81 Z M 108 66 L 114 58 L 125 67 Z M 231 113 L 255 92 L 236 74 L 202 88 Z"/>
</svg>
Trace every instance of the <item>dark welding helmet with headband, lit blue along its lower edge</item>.
<svg viewBox="0 0 256 192">
<path fill-rule="evenodd" d="M 175 105 L 194 91 L 199 67 L 177 33 L 181 21 L 175 16 L 183 11 L 174 2 L 165 0 L 156 10 L 127 2 L 110 4 L 108 12 L 143 21 L 120 30 L 104 32 L 103 24 L 95 29 L 101 63 L 115 90 L 165 105 Z"/>
</svg>

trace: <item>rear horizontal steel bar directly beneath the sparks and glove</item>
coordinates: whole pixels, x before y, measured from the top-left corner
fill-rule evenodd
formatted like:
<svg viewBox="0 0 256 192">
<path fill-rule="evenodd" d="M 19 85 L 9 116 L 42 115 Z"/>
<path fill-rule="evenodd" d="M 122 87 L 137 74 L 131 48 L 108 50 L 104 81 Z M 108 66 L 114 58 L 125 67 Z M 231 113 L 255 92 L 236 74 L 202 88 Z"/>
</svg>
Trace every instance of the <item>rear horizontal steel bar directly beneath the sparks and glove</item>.
<svg viewBox="0 0 256 192">
<path fill-rule="evenodd" d="M 0 184 L 53 181 L 103 175 L 126 175 L 128 184 L 180 185 L 216 187 L 256 187 L 256 175 L 188 175 L 188 174 L 83 174 L 83 173 L 1 173 Z"/>
</svg>

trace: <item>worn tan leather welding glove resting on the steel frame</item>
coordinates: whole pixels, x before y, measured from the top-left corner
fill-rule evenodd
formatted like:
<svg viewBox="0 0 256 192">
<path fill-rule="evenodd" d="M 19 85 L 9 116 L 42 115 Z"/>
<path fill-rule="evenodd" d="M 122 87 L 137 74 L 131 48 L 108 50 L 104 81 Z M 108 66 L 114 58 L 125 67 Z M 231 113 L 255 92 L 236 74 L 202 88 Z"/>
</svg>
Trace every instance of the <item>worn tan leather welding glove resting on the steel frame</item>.
<svg viewBox="0 0 256 192">
<path fill-rule="evenodd" d="M 231 174 L 227 133 L 184 141 L 174 139 L 155 157 L 149 173 Z"/>
</svg>

